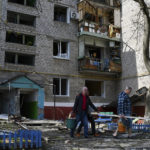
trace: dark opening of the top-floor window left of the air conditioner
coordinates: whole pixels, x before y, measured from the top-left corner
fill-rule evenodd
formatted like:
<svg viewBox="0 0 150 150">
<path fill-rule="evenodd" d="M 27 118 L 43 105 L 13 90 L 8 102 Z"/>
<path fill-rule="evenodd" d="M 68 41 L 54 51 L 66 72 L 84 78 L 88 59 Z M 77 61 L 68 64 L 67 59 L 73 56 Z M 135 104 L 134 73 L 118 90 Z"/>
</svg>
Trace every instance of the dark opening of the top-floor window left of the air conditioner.
<svg viewBox="0 0 150 150">
<path fill-rule="evenodd" d="M 55 6 L 54 7 L 54 20 L 67 22 L 67 7 Z"/>
</svg>

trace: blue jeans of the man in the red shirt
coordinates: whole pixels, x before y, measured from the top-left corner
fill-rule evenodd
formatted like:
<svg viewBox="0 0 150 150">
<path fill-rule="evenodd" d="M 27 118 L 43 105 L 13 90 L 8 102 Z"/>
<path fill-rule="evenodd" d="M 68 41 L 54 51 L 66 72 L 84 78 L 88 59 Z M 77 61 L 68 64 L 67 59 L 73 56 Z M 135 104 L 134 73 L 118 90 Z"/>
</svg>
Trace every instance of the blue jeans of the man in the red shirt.
<svg viewBox="0 0 150 150">
<path fill-rule="evenodd" d="M 71 129 L 71 137 L 74 136 L 74 132 L 75 132 L 75 129 L 77 127 L 77 124 L 79 122 L 82 122 L 83 126 L 84 126 L 84 136 L 87 137 L 88 136 L 88 118 L 87 118 L 87 113 L 85 111 L 82 112 L 82 114 L 77 114 L 76 115 L 76 123 L 75 123 L 75 126 L 73 129 Z"/>
</svg>

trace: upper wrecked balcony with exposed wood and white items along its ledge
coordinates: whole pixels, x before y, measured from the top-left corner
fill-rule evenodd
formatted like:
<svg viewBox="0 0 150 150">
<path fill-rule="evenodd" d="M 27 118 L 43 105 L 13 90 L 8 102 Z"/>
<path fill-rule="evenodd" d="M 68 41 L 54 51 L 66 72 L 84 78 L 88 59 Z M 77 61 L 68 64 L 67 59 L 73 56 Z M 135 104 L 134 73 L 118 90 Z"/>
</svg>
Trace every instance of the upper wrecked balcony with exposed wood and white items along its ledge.
<svg viewBox="0 0 150 150">
<path fill-rule="evenodd" d="M 109 41 L 121 41 L 121 28 L 113 9 L 94 6 L 84 0 L 78 4 L 79 36 L 93 36 Z"/>
</svg>

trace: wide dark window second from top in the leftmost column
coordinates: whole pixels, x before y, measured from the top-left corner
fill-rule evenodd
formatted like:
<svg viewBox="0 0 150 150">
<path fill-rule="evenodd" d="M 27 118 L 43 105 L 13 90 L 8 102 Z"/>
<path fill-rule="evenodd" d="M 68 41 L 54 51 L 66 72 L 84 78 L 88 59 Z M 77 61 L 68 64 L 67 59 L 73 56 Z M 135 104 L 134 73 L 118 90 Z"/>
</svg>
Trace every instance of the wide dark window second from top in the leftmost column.
<svg viewBox="0 0 150 150">
<path fill-rule="evenodd" d="M 7 21 L 10 23 L 23 24 L 23 25 L 28 25 L 28 26 L 35 25 L 34 16 L 15 13 L 12 11 L 7 12 Z"/>
</svg>

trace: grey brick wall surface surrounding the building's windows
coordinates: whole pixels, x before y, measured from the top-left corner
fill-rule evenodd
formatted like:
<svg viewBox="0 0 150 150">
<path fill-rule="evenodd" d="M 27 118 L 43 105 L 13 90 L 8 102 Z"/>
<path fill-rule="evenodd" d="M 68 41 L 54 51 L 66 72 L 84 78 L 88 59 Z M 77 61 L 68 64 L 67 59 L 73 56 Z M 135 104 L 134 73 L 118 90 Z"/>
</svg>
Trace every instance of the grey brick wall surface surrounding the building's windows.
<svg viewBox="0 0 150 150">
<path fill-rule="evenodd" d="M 75 96 L 85 85 L 85 80 L 104 81 L 105 97 L 91 97 L 93 102 L 108 103 L 116 100 L 116 82 L 112 78 L 99 75 L 82 75 L 78 72 L 78 22 L 70 23 L 54 21 L 54 5 L 52 1 L 39 0 L 37 7 L 27 7 L 19 4 L 1 1 L 2 20 L 7 20 L 7 10 L 36 16 L 36 27 L 0 22 L 0 77 L 11 78 L 15 75 L 26 74 L 32 80 L 44 85 L 45 102 L 53 102 L 53 78 L 61 77 L 69 80 L 69 96 L 56 96 L 56 102 L 73 103 Z M 62 0 L 57 5 L 69 7 L 77 11 L 75 0 Z M 1 6 L 1 5 L 0 5 Z M 36 36 L 35 46 L 25 46 L 5 42 L 6 30 Z M 70 58 L 58 59 L 53 57 L 53 40 L 70 42 Z M 35 66 L 6 64 L 5 51 L 35 55 Z M 35 73 L 36 72 L 36 73 Z M 49 81 L 49 82 L 48 82 Z"/>
</svg>

